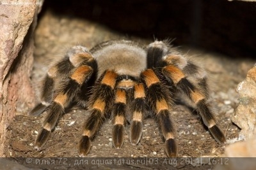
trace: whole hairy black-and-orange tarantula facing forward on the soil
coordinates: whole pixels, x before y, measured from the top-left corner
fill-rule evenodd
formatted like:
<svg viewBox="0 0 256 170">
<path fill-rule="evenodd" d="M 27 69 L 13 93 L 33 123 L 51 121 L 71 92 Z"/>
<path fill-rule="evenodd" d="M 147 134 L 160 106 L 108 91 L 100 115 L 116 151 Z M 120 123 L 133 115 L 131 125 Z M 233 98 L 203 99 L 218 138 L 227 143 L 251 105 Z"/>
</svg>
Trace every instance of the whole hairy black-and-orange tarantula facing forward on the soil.
<svg viewBox="0 0 256 170">
<path fill-rule="evenodd" d="M 225 136 L 216 125 L 204 69 L 180 55 L 167 41 L 154 41 L 142 48 L 132 41 L 108 41 L 87 50 L 74 46 L 60 62 L 49 68 L 43 81 L 42 103 L 31 115 L 47 111 L 35 147 L 42 147 L 49 138 L 65 108 L 76 101 L 90 111 L 78 144 L 80 156 L 91 147 L 91 139 L 105 118 L 113 120 L 113 145 L 124 141 L 124 125 L 130 125 L 130 141 L 141 138 L 143 118 L 156 118 L 165 140 L 168 157 L 177 155 L 175 128 L 170 118 L 173 95 L 188 96 L 204 124 L 219 143 Z"/>
</svg>

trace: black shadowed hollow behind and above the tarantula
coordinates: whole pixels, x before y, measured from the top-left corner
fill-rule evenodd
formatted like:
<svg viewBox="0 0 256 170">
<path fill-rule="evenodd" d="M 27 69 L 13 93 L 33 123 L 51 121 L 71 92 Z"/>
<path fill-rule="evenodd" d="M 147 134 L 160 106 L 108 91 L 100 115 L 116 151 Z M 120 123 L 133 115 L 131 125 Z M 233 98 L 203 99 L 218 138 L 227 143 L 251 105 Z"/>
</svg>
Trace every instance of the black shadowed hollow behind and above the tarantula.
<svg viewBox="0 0 256 170">
<path fill-rule="evenodd" d="M 256 57 L 256 3 L 227 0 L 46 0 L 51 10 L 127 36 L 175 39 L 230 57 Z"/>
</svg>

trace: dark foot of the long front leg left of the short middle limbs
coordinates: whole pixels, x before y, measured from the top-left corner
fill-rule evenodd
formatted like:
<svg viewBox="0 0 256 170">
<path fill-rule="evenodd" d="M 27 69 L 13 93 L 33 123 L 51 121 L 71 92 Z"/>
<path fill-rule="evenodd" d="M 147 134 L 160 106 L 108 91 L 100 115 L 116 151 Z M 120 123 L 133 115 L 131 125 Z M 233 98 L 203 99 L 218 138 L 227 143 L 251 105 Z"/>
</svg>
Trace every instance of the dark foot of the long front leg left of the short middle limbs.
<svg viewBox="0 0 256 170">
<path fill-rule="evenodd" d="M 91 139 L 88 136 L 83 136 L 78 144 L 79 157 L 85 157 L 91 148 Z"/>
</svg>

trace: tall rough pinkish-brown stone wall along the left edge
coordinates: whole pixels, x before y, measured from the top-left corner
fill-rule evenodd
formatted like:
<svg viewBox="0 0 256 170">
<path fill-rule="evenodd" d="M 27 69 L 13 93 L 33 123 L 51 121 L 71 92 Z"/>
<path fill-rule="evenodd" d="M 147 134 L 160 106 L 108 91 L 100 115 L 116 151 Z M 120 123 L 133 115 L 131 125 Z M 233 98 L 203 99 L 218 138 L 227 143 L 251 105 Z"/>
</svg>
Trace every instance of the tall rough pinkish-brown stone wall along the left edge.
<svg viewBox="0 0 256 170">
<path fill-rule="evenodd" d="M 35 0 L 0 4 L 0 143 L 4 142 L 12 117 L 33 104 L 29 76 L 33 64 L 36 6 Z M 0 156 L 4 157 L 3 145 Z"/>
</svg>

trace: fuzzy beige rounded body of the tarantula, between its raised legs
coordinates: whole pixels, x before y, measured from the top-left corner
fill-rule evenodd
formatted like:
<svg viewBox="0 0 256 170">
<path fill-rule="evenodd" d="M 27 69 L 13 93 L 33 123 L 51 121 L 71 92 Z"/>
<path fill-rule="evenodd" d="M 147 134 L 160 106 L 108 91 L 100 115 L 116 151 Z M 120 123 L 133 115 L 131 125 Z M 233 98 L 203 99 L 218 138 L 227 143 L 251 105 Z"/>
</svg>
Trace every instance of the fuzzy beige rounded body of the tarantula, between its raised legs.
<svg viewBox="0 0 256 170">
<path fill-rule="evenodd" d="M 145 50 L 131 41 L 108 41 L 95 46 L 91 52 L 97 60 L 98 75 L 113 69 L 120 75 L 138 77 L 147 66 Z"/>
</svg>

